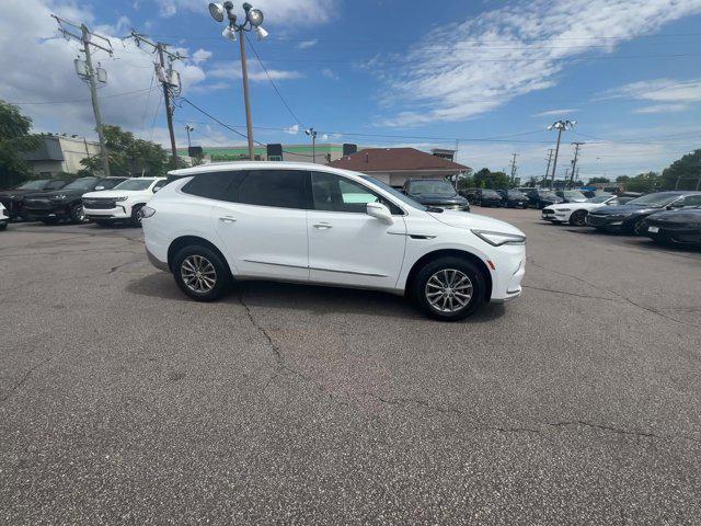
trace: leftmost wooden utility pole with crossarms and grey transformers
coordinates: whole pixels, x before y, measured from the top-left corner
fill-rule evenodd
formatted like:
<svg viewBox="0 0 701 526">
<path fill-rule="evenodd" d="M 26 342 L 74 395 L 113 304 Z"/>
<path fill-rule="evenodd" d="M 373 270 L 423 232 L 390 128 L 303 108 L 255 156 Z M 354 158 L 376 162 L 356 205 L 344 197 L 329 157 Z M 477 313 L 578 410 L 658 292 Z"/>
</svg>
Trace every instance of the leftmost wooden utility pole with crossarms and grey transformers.
<svg viewBox="0 0 701 526">
<path fill-rule="evenodd" d="M 102 128 L 102 112 L 100 111 L 100 100 L 97 99 L 97 80 L 100 79 L 97 79 L 96 77 L 99 77 L 100 71 L 96 71 L 95 68 L 93 68 L 91 46 L 97 49 L 102 49 L 103 52 L 106 52 L 110 56 L 112 56 L 112 53 L 113 53 L 112 43 L 110 42 L 108 38 L 91 32 L 85 24 L 78 25 L 73 22 L 69 22 L 68 20 L 56 16 L 55 14 L 51 14 L 51 16 L 56 19 L 56 22 L 58 22 L 58 28 L 66 38 L 73 38 L 83 45 L 82 52 L 85 55 L 85 61 L 84 64 L 82 64 L 80 59 L 77 59 L 76 70 L 79 77 L 83 80 L 87 80 L 88 84 L 90 85 L 90 99 L 92 101 L 92 112 L 95 116 L 95 126 L 97 128 L 97 138 L 100 140 L 100 152 L 102 156 L 102 170 L 104 172 L 105 178 L 108 178 L 110 160 L 107 159 L 107 147 L 105 146 L 105 138 L 104 138 L 103 128 Z M 67 28 L 64 27 L 64 25 L 70 25 L 71 27 L 80 30 L 80 35 L 68 31 Z M 105 47 L 101 44 L 95 43 L 93 37 L 102 39 L 104 43 L 106 43 L 106 46 L 108 47 Z M 104 73 L 104 70 L 102 70 L 102 72 Z M 106 82 L 106 75 L 105 75 L 104 82 Z"/>
</svg>

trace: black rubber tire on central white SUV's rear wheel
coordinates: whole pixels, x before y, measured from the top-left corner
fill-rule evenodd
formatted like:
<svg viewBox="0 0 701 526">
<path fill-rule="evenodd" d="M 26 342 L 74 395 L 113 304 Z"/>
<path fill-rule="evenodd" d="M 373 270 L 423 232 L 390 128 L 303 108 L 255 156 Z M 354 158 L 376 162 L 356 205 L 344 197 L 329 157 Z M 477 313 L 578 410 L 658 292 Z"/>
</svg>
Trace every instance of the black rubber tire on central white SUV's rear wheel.
<svg viewBox="0 0 701 526">
<path fill-rule="evenodd" d="M 202 264 L 202 274 L 209 276 L 209 278 L 214 277 L 215 281 L 214 286 L 207 290 L 197 290 L 196 282 L 191 282 L 191 285 L 185 282 L 184 275 L 188 272 L 187 268 L 191 268 L 193 262 L 196 262 L 197 259 L 204 260 Z M 189 267 L 186 262 L 189 262 Z M 208 272 L 209 267 L 207 266 L 207 263 L 214 267 L 214 275 Z M 185 264 L 185 267 L 183 267 L 183 264 Z M 181 251 L 175 254 L 175 258 L 173 258 L 171 268 L 173 271 L 175 283 L 180 289 L 197 301 L 214 301 L 219 299 L 227 294 L 231 286 L 231 276 L 226 262 L 222 261 L 219 254 L 207 247 L 193 244 L 181 249 Z M 205 278 L 203 277 L 203 279 Z M 193 286 L 193 284 L 195 286 Z M 205 285 L 209 286 L 209 282 L 206 282 Z"/>
</svg>

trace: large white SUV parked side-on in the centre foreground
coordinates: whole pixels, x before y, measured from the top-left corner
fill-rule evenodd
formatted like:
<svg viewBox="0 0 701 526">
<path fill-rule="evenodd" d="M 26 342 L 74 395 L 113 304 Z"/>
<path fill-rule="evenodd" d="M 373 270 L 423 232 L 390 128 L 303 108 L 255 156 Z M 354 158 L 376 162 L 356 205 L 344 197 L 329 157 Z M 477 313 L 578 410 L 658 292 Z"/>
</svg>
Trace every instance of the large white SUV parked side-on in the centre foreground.
<svg viewBox="0 0 701 526">
<path fill-rule="evenodd" d="M 457 320 L 521 293 L 526 237 L 425 207 L 368 175 L 319 164 L 229 162 L 171 172 L 141 209 L 149 260 L 191 298 L 235 279 L 374 288 Z"/>
</svg>

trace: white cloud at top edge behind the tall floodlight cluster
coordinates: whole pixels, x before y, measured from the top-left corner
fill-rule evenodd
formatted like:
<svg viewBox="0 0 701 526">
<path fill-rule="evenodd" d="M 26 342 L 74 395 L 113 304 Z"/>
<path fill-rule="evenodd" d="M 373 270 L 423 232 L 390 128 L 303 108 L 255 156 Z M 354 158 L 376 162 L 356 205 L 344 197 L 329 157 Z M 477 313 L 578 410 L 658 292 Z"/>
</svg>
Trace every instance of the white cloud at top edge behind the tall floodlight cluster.
<svg viewBox="0 0 701 526">
<path fill-rule="evenodd" d="M 191 11 L 209 16 L 209 0 L 153 0 L 161 16 L 173 16 Z M 332 20 L 336 14 L 336 0 L 256 0 L 255 7 L 265 15 L 264 25 L 315 25 Z M 240 3 L 237 13 L 243 15 Z"/>
</svg>

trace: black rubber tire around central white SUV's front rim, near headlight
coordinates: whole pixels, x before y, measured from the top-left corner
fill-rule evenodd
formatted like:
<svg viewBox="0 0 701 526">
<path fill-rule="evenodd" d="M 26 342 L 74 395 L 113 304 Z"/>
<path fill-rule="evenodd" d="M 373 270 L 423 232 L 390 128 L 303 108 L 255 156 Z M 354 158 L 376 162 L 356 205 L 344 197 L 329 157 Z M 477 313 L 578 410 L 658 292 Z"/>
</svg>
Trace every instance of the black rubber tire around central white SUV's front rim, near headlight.
<svg viewBox="0 0 701 526">
<path fill-rule="evenodd" d="M 448 279 L 450 279 L 450 271 L 458 271 L 469 278 L 472 294 L 470 295 L 469 301 L 457 310 L 441 311 L 436 308 L 427 297 L 427 294 L 430 294 L 427 293 L 427 290 L 432 290 L 432 287 L 428 285 L 429 279 L 441 273 L 441 271 L 448 273 Z M 482 271 L 471 261 L 456 256 L 439 258 L 429 261 L 416 273 L 412 283 L 412 296 L 418 307 L 429 318 L 443 321 L 458 321 L 473 313 L 484 304 L 485 291 L 486 284 Z M 434 299 L 434 301 L 436 300 L 437 299 Z M 452 302 L 452 299 L 450 299 L 450 301 Z"/>
</svg>

